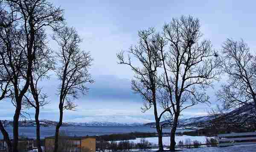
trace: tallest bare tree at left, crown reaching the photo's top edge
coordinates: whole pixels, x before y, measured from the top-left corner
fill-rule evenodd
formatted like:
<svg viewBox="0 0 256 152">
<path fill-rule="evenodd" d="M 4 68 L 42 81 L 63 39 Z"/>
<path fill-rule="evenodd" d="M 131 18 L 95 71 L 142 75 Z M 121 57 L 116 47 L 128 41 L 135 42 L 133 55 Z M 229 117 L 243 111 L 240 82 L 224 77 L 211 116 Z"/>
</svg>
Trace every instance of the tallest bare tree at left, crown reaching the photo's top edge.
<svg viewBox="0 0 256 152">
<path fill-rule="evenodd" d="M 6 49 L 1 55 L 8 75 L 12 77 L 12 101 L 15 105 L 13 118 L 13 152 L 17 152 L 18 121 L 22 101 L 29 89 L 32 65 L 35 60 L 35 37 L 46 26 L 58 27 L 63 21 L 63 10 L 46 0 L 3 0 L 1 41 Z"/>
</svg>

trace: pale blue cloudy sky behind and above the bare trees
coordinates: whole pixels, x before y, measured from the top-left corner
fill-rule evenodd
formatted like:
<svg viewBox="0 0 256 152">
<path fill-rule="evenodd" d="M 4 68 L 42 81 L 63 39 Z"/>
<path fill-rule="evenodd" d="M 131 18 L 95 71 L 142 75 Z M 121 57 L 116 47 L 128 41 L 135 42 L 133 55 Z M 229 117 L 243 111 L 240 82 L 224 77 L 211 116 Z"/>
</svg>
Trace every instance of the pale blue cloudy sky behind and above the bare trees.
<svg viewBox="0 0 256 152">
<path fill-rule="evenodd" d="M 132 93 L 130 68 L 117 65 L 116 53 L 128 50 L 136 44 L 137 31 L 148 27 L 161 30 L 172 17 L 192 15 L 201 21 L 204 38 L 212 41 L 220 51 L 227 38 L 241 39 L 252 50 L 256 48 L 256 2 L 234 0 L 53 0 L 55 6 L 65 9 L 65 17 L 83 38 L 81 48 L 90 51 L 93 67 L 90 69 L 95 84 L 89 86 L 87 96 L 76 101 L 76 111 L 65 111 L 65 121 L 119 121 L 150 122 L 154 120 L 152 111 L 141 113 L 143 105 L 140 96 Z M 57 49 L 52 45 L 52 49 Z M 55 95 L 58 81 L 45 81 L 44 91 L 49 95 L 50 105 L 41 110 L 41 119 L 58 119 L 58 97 Z M 224 80 L 216 83 L 215 89 L 208 91 L 215 102 L 215 91 Z M 9 101 L 1 104 L 0 119 L 12 119 L 13 107 Z M 206 104 L 186 110 L 183 117 L 207 114 Z M 29 110 L 33 118 L 33 110 Z"/>
</svg>

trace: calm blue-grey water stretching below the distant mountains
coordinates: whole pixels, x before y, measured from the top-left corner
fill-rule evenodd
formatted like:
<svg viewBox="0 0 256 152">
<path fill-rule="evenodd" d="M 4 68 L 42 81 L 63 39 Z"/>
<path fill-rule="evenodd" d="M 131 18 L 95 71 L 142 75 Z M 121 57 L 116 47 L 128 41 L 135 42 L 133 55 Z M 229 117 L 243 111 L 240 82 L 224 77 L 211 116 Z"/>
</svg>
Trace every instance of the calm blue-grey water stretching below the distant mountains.
<svg viewBox="0 0 256 152">
<path fill-rule="evenodd" d="M 10 137 L 12 137 L 12 127 L 6 127 Z M 110 135 L 128 132 L 156 132 L 155 128 L 149 126 L 139 127 L 61 127 L 65 134 L 70 136 L 86 136 L 86 135 Z M 163 132 L 170 132 L 170 129 L 164 129 Z M 177 130 L 177 132 L 184 132 L 185 130 Z M 187 130 L 186 130 L 187 131 Z M 41 138 L 52 136 L 55 133 L 55 127 L 41 127 Z M 19 134 L 29 138 L 35 138 L 35 127 L 19 127 Z M 3 139 L 0 133 L 0 139 Z"/>
</svg>

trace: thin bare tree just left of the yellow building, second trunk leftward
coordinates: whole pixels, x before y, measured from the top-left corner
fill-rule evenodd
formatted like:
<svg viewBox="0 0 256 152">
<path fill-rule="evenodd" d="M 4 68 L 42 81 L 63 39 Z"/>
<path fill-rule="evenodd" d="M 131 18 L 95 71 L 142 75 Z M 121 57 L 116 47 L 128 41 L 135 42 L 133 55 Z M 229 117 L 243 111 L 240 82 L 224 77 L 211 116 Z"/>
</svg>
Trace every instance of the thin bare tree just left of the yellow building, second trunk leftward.
<svg viewBox="0 0 256 152">
<path fill-rule="evenodd" d="M 43 79 L 49 78 L 49 71 L 54 70 L 54 55 L 48 47 L 47 35 L 44 31 L 38 32 L 38 36 L 35 37 L 34 50 L 36 51 L 35 61 L 32 66 L 32 75 L 30 77 L 30 89 L 29 96 L 25 96 L 25 101 L 29 107 L 35 108 L 35 122 L 36 122 L 36 142 L 38 152 L 42 152 L 40 141 L 40 121 L 39 113 L 40 109 L 49 104 L 47 94 L 43 93 L 43 89 L 39 86 Z"/>
</svg>

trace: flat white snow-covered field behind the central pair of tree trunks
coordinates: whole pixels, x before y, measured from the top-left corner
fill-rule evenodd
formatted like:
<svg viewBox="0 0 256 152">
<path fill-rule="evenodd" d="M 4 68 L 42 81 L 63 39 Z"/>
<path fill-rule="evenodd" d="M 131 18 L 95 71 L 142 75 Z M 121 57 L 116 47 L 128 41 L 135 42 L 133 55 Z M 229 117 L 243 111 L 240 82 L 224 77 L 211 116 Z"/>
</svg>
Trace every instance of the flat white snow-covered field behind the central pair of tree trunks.
<svg viewBox="0 0 256 152">
<path fill-rule="evenodd" d="M 140 139 L 141 138 L 136 138 L 134 140 L 129 140 L 131 142 L 134 143 L 140 143 Z M 183 141 L 183 143 L 185 143 L 186 139 L 191 139 L 191 141 L 199 141 L 202 144 L 206 143 L 206 137 L 205 136 L 188 136 L 188 135 L 183 135 L 183 136 L 175 136 L 175 141 L 176 143 L 178 143 L 179 141 Z M 148 142 L 152 143 L 152 144 L 158 144 L 158 137 L 149 137 L 149 138 L 145 138 L 145 140 L 147 140 Z M 169 146 L 170 145 L 170 137 L 163 137 L 163 145 L 164 146 Z"/>
</svg>

